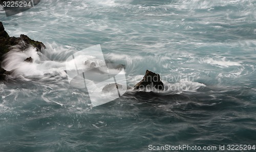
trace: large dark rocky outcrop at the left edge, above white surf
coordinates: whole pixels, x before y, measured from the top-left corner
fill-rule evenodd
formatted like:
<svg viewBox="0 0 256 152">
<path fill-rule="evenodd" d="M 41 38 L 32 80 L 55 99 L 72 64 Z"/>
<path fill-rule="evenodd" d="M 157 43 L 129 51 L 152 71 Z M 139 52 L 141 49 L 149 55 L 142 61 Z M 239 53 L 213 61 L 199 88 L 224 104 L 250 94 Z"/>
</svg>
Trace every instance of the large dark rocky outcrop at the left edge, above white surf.
<svg viewBox="0 0 256 152">
<path fill-rule="evenodd" d="M 3 23 L 0 21 L 0 66 L 4 59 L 4 55 L 8 53 L 13 48 L 17 48 L 20 51 L 25 51 L 30 46 L 33 46 L 36 51 L 42 51 L 46 49 L 45 45 L 40 41 L 35 41 L 30 39 L 27 35 L 21 34 L 19 37 L 10 37 L 5 31 Z M 25 61 L 32 61 L 32 58 L 27 58 Z M 0 70 L 0 81 L 5 78 L 6 71 L 1 68 Z"/>
</svg>

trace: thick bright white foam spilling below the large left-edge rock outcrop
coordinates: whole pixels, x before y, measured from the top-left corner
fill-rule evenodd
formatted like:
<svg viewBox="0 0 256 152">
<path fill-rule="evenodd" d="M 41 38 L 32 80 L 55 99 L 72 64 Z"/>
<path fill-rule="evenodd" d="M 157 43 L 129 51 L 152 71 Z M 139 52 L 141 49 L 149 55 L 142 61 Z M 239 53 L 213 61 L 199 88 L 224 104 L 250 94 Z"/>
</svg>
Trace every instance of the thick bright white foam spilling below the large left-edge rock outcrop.
<svg viewBox="0 0 256 152">
<path fill-rule="evenodd" d="M 24 61 L 26 58 L 32 57 L 32 62 Z M 65 63 L 61 61 L 45 60 L 45 56 L 40 52 L 36 52 L 33 47 L 26 51 L 12 49 L 6 54 L 3 61 L 3 68 L 7 71 L 12 71 L 12 76 L 44 76 L 47 74 L 62 75 Z"/>
</svg>

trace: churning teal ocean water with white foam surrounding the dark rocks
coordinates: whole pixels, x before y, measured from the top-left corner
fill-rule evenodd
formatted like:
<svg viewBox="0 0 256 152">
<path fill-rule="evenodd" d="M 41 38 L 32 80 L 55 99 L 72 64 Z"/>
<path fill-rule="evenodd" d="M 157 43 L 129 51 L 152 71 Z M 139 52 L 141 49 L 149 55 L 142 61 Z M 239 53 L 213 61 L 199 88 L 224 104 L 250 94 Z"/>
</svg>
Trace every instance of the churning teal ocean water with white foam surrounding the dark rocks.
<svg viewBox="0 0 256 152">
<path fill-rule="evenodd" d="M 11 52 L 2 65 L 14 73 L 0 84 L 1 152 L 256 146 L 256 1 L 42 0 L 0 20 L 10 36 L 47 47 Z M 64 70 L 98 44 L 125 65 L 127 85 L 151 70 L 168 89 L 130 89 L 92 108 Z M 150 148 L 165 145 L 217 148 Z"/>
</svg>

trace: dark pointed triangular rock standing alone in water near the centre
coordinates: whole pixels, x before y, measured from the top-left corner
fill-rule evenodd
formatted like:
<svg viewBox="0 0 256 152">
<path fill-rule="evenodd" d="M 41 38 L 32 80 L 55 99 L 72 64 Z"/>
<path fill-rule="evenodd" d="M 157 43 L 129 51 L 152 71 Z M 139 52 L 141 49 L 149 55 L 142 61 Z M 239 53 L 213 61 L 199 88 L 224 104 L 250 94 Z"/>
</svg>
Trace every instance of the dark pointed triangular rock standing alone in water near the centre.
<svg viewBox="0 0 256 152">
<path fill-rule="evenodd" d="M 143 79 L 134 86 L 134 90 L 142 89 L 145 90 L 147 87 L 153 85 L 157 90 L 163 90 L 163 82 L 160 79 L 160 75 L 154 72 L 146 70 Z"/>
</svg>

